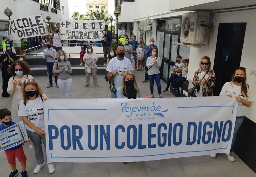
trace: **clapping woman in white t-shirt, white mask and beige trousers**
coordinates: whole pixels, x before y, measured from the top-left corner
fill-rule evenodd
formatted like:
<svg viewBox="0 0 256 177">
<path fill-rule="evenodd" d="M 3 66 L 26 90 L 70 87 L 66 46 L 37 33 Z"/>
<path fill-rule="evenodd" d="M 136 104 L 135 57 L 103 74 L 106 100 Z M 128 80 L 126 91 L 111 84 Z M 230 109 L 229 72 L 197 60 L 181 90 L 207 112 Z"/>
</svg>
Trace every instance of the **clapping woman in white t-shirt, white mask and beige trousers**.
<svg viewBox="0 0 256 177">
<path fill-rule="evenodd" d="M 85 86 L 84 87 L 88 87 L 90 84 L 90 74 L 92 74 L 92 78 L 93 78 L 93 83 L 96 87 L 99 87 L 98 83 L 97 83 L 97 65 L 96 63 L 98 62 L 98 57 L 96 53 L 93 53 L 93 49 L 92 46 L 89 45 L 87 46 L 87 51 L 83 56 L 83 62 L 84 67 L 85 67 Z"/>
</svg>

